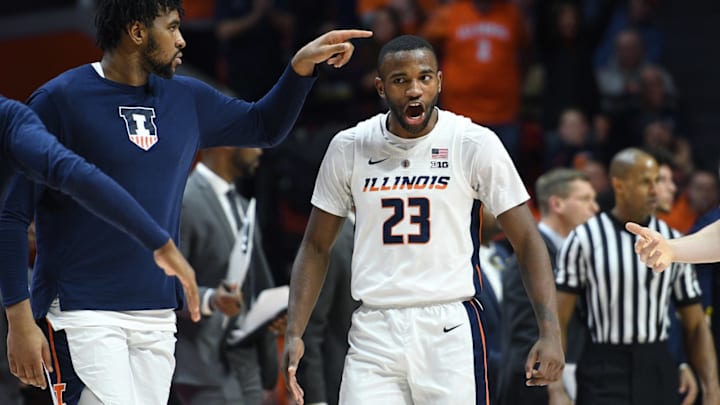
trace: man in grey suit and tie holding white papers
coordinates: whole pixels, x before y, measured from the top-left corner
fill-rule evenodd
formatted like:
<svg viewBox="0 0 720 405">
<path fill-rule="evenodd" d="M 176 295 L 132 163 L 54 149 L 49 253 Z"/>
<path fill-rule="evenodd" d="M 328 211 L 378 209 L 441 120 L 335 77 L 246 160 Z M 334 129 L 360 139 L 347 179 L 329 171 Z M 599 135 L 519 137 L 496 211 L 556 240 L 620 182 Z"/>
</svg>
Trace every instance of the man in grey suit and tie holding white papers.
<svg viewBox="0 0 720 405">
<path fill-rule="evenodd" d="M 258 148 L 204 150 L 185 189 L 180 249 L 196 270 L 203 315 L 195 324 L 178 317 L 172 390 L 186 405 L 259 405 L 263 389 L 276 383 L 275 336 L 264 324 L 243 328 L 261 305 L 260 293 L 276 291 L 255 201 L 235 188 L 255 173 L 261 154 Z"/>
</svg>

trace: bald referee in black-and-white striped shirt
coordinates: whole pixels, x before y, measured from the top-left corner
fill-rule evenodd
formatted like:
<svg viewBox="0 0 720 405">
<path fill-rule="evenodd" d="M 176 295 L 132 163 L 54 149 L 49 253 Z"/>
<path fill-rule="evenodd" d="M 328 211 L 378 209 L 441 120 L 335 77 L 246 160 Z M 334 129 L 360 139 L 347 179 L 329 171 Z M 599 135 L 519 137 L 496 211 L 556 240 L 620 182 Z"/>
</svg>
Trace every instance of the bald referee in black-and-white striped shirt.
<svg viewBox="0 0 720 405">
<path fill-rule="evenodd" d="M 563 336 L 578 298 L 587 307 L 591 342 L 577 368 L 577 405 L 677 405 L 678 374 L 668 350 L 668 304 L 683 324 L 685 347 L 703 387 L 703 404 L 720 404 L 715 348 L 690 265 L 655 273 L 635 255 L 633 221 L 666 238 L 678 233 L 652 216 L 658 164 L 634 148 L 610 164 L 615 207 L 569 235 L 558 258 L 556 284 Z"/>
</svg>

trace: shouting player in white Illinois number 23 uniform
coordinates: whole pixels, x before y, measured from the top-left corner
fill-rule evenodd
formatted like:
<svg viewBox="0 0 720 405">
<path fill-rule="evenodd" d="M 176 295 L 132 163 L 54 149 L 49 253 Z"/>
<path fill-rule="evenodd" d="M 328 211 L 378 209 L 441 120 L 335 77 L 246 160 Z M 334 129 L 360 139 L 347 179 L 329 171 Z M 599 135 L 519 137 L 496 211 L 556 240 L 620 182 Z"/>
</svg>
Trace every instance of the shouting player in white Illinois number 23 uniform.
<svg viewBox="0 0 720 405">
<path fill-rule="evenodd" d="M 337 134 L 293 264 L 284 372 L 298 403 L 303 332 L 345 216 L 355 208 L 353 314 L 340 403 L 489 402 L 479 229 L 473 202 L 497 217 L 523 267 L 539 338 L 527 384 L 559 378 L 555 288 L 528 194 L 497 136 L 436 107 L 442 73 L 432 46 L 400 36 L 378 56 L 376 89 L 390 111 Z M 475 213 L 477 215 L 477 212 Z"/>
</svg>

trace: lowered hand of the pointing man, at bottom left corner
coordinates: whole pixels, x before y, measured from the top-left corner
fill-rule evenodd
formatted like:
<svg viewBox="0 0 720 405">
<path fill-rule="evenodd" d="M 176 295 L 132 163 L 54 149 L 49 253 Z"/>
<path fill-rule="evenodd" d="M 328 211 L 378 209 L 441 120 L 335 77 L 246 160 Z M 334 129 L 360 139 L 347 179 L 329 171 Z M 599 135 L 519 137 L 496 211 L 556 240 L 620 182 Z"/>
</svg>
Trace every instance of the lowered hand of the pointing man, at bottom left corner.
<svg viewBox="0 0 720 405">
<path fill-rule="evenodd" d="M 42 330 L 37 326 L 24 300 L 6 309 L 8 317 L 8 364 L 10 372 L 24 384 L 45 389 L 47 380 L 43 363 L 52 371 L 50 348 Z"/>
</svg>

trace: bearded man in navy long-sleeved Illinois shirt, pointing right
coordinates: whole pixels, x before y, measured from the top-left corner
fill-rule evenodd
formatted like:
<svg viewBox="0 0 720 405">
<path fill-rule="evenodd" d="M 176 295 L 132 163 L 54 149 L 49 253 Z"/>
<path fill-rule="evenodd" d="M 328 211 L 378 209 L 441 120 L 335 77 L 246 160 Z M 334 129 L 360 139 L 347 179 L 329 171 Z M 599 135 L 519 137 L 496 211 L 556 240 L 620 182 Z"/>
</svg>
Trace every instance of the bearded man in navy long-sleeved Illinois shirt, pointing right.
<svg viewBox="0 0 720 405">
<path fill-rule="evenodd" d="M 198 148 L 279 143 L 312 87 L 315 65 L 344 65 L 353 52 L 348 41 L 371 35 L 347 30 L 318 37 L 293 56 L 265 97 L 249 103 L 173 77 L 185 48 L 180 0 L 102 0 L 97 7 L 102 61 L 62 73 L 29 105 L 61 143 L 125 187 L 175 240 Z M 174 310 L 184 306 L 180 284 L 139 244 L 64 195 L 16 181 L 0 232 L 19 238 L 33 216 L 38 258 L 31 304 L 55 355 L 58 402 L 166 403 Z M 0 253 L 4 271 L 26 271 L 14 265 L 17 252 L 0 245 Z M 21 370 L 42 378 L 35 362 L 40 339 L 29 344 L 24 331 L 10 331 L 8 350 Z"/>
</svg>

